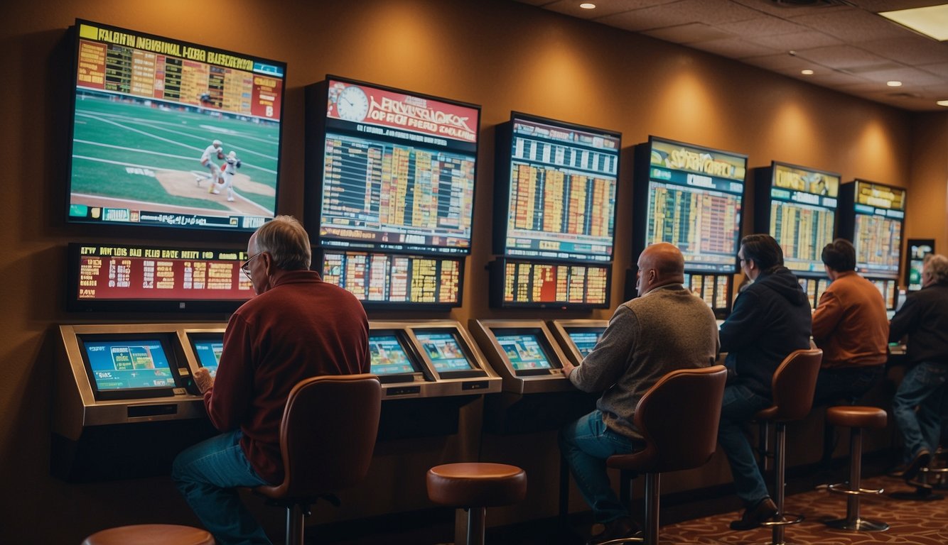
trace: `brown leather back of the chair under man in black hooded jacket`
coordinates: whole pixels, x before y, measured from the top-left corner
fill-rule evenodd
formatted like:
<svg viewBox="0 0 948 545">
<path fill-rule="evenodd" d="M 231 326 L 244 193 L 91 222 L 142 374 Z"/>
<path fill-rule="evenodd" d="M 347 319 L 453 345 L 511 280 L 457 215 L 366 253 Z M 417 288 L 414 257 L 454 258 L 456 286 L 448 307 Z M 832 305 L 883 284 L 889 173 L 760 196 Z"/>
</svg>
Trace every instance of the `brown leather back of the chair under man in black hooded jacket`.
<svg viewBox="0 0 948 545">
<path fill-rule="evenodd" d="M 822 361 L 823 351 L 818 348 L 791 352 L 774 372 L 771 382 L 774 404 L 757 413 L 757 418 L 788 422 L 806 417 L 813 406 Z"/>
</svg>

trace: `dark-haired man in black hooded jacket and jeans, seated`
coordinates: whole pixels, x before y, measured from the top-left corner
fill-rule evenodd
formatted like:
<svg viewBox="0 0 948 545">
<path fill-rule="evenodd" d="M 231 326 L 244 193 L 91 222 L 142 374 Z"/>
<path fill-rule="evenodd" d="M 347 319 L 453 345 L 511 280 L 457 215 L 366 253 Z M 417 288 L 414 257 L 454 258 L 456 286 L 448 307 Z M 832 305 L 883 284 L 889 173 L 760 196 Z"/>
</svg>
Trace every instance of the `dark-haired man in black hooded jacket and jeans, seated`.
<svg viewBox="0 0 948 545">
<path fill-rule="evenodd" d="M 752 283 L 720 325 L 720 350 L 727 352 L 728 384 L 721 406 L 718 444 L 727 454 L 738 498 L 746 507 L 732 530 L 749 530 L 776 514 L 744 425 L 772 403 L 771 380 L 791 352 L 810 347 L 810 300 L 783 251 L 770 235 L 740 241 L 740 267 Z"/>
</svg>

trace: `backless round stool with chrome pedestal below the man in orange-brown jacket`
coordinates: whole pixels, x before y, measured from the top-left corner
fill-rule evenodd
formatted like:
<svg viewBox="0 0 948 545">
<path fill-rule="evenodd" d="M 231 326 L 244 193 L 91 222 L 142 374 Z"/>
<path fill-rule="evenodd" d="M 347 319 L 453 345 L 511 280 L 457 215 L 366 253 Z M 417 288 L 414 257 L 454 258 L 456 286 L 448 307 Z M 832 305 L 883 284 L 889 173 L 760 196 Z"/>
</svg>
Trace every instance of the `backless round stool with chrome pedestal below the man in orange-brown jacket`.
<svg viewBox="0 0 948 545">
<path fill-rule="evenodd" d="M 859 516 L 859 497 L 863 494 L 882 494 L 884 489 L 868 490 L 860 487 L 863 467 L 863 428 L 884 428 L 886 413 L 877 407 L 842 405 L 827 409 L 827 423 L 849 428 L 849 482 L 830 484 L 830 492 L 846 494 L 846 519 L 826 522 L 830 528 L 854 532 L 883 532 L 888 524 L 866 520 Z"/>
</svg>

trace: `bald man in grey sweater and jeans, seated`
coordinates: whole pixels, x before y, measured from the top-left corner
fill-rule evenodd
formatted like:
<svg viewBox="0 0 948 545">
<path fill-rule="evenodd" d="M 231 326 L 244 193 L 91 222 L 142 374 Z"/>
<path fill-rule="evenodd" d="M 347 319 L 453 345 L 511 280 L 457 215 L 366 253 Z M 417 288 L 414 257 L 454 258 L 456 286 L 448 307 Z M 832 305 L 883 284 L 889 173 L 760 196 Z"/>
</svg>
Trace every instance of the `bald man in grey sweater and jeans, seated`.
<svg viewBox="0 0 948 545">
<path fill-rule="evenodd" d="M 595 411 L 559 431 L 559 448 L 594 521 L 605 525 L 589 543 L 638 532 L 612 491 L 606 458 L 643 448 L 633 424 L 639 398 L 671 371 L 706 367 L 717 357 L 714 313 L 683 282 L 681 251 L 665 242 L 648 246 L 639 255 L 639 296 L 615 309 L 602 339 L 578 366 L 564 361 L 563 372 L 576 388 L 602 392 Z"/>
</svg>

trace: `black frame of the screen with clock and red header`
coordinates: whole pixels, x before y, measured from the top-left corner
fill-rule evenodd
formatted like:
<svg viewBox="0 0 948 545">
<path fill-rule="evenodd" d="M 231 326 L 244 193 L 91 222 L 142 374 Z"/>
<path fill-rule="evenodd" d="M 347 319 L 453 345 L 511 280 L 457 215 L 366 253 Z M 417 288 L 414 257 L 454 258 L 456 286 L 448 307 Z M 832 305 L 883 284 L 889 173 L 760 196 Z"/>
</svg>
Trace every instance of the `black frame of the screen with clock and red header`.
<svg viewBox="0 0 948 545">
<path fill-rule="evenodd" d="M 378 89 L 380 91 L 385 91 L 389 93 L 396 93 L 401 95 L 407 95 L 409 97 L 418 97 L 424 98 L 426 100 L 434 100 L 437 102 L 442 102 L 452 106 L 459 106 L 462 108 L 470 108 L 477 112 L 477 128 L 475 129 L 475 134 L 477 136 L 477 141 L 474 143 L 474 172 L 473 172 L 473 187 L 471 188 L 471 232 L 470 237 L 467 239 L 467 246 L 463 249 L 458 248 L 452 250 L 451 246 L 409 246 L 406 244 L 392 244 L 388 246 L 385 244 L 379 244 L 375 242 L 364 242 L 358 244 L 357 240 L 343 240 L 339 244 L 325 244 L 323 237 L 319 236 L 320 227 L 322 224 L 322 191 L 323 191 L 323 175 L 325 168 L 325 141 L 326 141 L 326 132 L 327 132 L 327 115 L 326 115 L 326 104 L 329 101 L 329 88 L 330 81 L 337 81 L 340 83 L 345 83 L 348 85 L 359 85 L 364 87 L 371 87 L 373 89 Z M 453 255 L 464 257 L 470 255 L 471 246 L 473 246 L 474 240 L 474 228 L 476 220 L 474 215 L 474 206 L 473 203 L 476 202 L 477 198 L 477 174 L 479 167 L 479 153 L 481 149 L 481 121 L 483 118 L 482 107 L 479 104 L 472 104 L 462 100 L 455 100 L 452 98 L 446 97 L 436 97 L 433 95 L 428 95 L 425 93 L 416 93 L 414 91 L 408 91 L 405 89 L 399 89 L 396 87 L 391 87 L 388 85 L 381 85 L 378 83 L 372 83 L 369 81 L 363 81 L 360 79 L 351 79 L 341 76 L 336 76 L 332 74 L 327 74 L 325 79 L 317 83 L 306 86 L 305 90 L 305 100 L 306 100 L 306 114 L 305 114 L 305 129 L 306 129 L 306 138 L 305 138 L 305 165 L 304 165 L 304 180 L 305 187 L 303 191 L 303 208 L 304 214 L 303 218 L 305 219 L 306 231 L 309 233 L 310 243 L 313 246 L 319 248 L 325 248 L 333 251 L 352 251 L 352 252 L 378 252 L 383 254 L 408 254 L 408 255 Z M 365 136 L 363 136 L 365 137 Z M 387 141 L 387 140 L 386 140 Z M 335 238 L 334 238 L 335 239 Z M 399 247 L 400 246 L 400 247 Z"/>
</svg>

